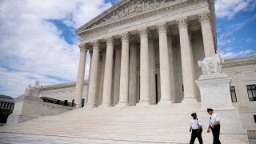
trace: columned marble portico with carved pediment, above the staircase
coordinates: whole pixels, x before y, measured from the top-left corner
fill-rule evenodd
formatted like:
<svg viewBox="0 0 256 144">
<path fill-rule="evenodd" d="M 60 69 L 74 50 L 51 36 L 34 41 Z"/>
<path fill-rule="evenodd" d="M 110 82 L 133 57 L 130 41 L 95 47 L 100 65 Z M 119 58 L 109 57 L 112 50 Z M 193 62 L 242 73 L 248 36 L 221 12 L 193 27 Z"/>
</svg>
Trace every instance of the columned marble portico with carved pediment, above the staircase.
<svg viewBox="0 0 256 144">
<path fill-rule="evenodd" d="M 76 30 L 81 37 L 75 103 L 86 106 L 198 102 L 198 60 L 216 53 L 214 1 L 127 1 Z"/>
</svg>

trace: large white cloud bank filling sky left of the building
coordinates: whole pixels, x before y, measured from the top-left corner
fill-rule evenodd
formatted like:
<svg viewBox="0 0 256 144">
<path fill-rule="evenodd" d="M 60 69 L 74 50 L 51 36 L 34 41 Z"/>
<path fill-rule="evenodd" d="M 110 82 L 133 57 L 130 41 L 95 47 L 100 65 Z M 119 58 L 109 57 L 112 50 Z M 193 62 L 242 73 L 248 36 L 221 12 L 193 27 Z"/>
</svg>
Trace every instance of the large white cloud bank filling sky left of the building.
<svg viewBox="0 0 256 144">
<path fill-rule="evenodd" d="M 47 20 L 61 20 L 75 30 L 110 6 L 103 0 L 1 1 L 0 94 L 17 97 L 36 79 L 43 86 L 76 81 L 78 43 L 67 43 Z M 87 54 L 86 78 L 89 59 Z"/>
</svg>

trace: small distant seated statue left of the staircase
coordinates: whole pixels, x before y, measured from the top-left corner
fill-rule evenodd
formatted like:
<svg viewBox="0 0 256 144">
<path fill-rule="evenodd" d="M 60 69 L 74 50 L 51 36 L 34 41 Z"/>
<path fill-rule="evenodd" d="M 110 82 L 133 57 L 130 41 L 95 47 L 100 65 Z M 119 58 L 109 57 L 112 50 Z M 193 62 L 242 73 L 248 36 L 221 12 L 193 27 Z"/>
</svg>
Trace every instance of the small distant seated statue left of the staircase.
<svg viewBox="0 0 256 144">
<path fill-rule="evenodd" d="M 39 97 L 42 92 L 42 86 L 39 85 L 39 82 L 36 81 L 35 85 L 31 87 L 31 84 L 26 87 L 25 95 L 32 96 L 32 97 Z"/>
</svg>

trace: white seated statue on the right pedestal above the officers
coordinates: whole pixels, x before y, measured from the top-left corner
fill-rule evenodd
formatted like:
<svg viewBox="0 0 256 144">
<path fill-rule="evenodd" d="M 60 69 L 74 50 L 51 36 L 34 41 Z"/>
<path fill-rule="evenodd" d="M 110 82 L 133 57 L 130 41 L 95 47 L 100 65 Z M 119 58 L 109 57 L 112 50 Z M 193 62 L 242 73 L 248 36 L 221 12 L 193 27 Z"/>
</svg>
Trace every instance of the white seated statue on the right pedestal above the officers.
<svg viewBox="0 0 256 144">
<path fill-rule="evenodd" d="M 219 54 L 212 54 L 207 52 L 206 58 L 202 61 L 198 61 L 198 66 L 202 68 L 203 75 L 219 74 L 222 73 L 223 59 Z"/>
</svg>

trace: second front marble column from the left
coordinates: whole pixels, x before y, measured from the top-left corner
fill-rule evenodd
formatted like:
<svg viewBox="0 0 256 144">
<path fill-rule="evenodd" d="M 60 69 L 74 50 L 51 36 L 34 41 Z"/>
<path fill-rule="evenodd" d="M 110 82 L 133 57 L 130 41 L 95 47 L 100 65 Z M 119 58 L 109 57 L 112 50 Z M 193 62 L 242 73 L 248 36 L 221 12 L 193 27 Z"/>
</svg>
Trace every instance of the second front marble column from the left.
<svg viewBox="0 0 256 144">
<path fill-rule="evenodd" d="M 97 85 L 97 73 L 98 73 L 98 54 L 99 54 L 99 42 L 93 42 L 93 58 L 90 66 L 90 85 L 88 90 L 88 102 L 86 106 L 95 107 L 96 102 L 96 85 Z"/>
</svg>

